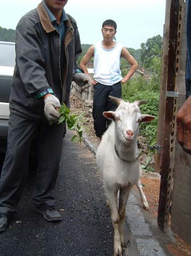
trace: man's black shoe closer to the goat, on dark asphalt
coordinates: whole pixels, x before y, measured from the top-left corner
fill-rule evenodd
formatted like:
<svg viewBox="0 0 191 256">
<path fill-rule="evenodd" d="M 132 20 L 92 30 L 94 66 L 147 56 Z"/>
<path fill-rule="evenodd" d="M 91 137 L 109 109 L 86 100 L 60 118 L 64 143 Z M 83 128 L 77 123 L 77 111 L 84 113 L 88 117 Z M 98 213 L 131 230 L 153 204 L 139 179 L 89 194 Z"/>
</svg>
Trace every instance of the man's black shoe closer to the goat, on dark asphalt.
<svg viewBox="0 0 191 256">
<path fill-rule="evenodd" d="M 48 221 L 61 221 L 61 214 L 54 208 L 38 207 L 36 212 L 43 214 L 43 217 Z"/>
</svg>

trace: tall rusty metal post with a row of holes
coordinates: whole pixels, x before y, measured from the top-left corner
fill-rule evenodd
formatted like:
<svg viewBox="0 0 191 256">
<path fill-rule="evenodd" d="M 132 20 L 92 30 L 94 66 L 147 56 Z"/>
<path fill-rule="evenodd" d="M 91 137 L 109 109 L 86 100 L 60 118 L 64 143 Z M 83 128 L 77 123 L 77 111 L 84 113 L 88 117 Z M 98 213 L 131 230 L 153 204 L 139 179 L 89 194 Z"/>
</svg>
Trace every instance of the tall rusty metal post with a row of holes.
<svg viewBox="0 0 191 256">
<path fill-rule="evenodd" d="M 158 209 L 158 225 L 164 229 L 168 225 L 171 204 L 172 174 L 175 151 L 175 105 L 177 72 L 177 39 L 179 27 L 179 0 L 171 1 L 169 19 L 167 92 L 165 95 L 165 113 L 163 123 L 163 148 L 161 158 L 161 181 Z"/>
</svg>

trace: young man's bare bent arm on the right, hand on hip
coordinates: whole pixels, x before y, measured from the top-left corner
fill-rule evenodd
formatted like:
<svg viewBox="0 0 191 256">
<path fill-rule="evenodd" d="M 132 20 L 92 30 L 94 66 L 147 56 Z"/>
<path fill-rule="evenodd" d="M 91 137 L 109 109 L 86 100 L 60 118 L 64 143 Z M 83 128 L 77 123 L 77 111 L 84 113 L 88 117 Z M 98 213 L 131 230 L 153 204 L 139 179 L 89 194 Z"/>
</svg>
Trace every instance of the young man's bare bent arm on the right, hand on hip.
<svg viewBox="0 0 191 256">
<path fill-rule="evenodd" d="M 124 59 L 126 59 L 126 61 L 128 61 L 128 63 L 131 65 L 129 72 L 121 80 L 121 82 L 124 83 L 124 82 L 127 82 L 131 78 L 131 76 L 133 76 L 134 72 L 138 68 L 138 64 L 137 64 L 137 61 L 134 59 L 134 57 L 130 55 L 129 51 L 125 47 L 122 48 L 121 56 L 124 57 Z"/>
</svg>

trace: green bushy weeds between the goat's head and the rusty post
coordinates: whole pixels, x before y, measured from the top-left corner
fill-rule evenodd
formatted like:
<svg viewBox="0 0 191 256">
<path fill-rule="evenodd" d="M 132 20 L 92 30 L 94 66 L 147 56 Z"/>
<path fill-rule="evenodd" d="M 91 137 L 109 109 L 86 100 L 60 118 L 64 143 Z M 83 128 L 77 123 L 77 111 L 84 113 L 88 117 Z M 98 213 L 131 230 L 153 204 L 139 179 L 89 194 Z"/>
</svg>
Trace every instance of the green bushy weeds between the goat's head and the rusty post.
<svg viewBox="0 0 191 256">
<path fill-rule="evenodd" d="M 154 115 L 154 121 L 142 123 L 140 135 L 146 138 L 151 146 L 156 142 L 156 131 L 158 126 L 159 111 L 159 84 L 155 77 L 145 80 L 143 77 L 135 77 L 122 85 L 122 99 L 129 102 L 136 100 L 147 100 L 147 103 L 140 106 L 141 113 Z"/>
</svg>

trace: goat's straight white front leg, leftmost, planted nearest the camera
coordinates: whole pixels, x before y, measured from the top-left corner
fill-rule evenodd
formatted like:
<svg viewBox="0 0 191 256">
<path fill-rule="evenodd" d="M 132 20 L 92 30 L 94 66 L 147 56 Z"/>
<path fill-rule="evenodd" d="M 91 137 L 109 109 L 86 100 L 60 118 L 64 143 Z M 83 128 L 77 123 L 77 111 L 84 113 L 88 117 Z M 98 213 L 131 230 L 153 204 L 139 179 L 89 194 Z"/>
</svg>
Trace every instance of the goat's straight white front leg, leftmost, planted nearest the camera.
<svg viewBox="0 0 191 256">
<path fill-rule="evenodd" d="M 111 209 L 111 219 L 114 229 L 113 256 L 122 256 L 122 247 L 119 232 L 120 216 L 118 214 L 117 207 L 117 191 L 106 191 L 106 195 L 109 203 L 109 208 Z"/>
</svg>

